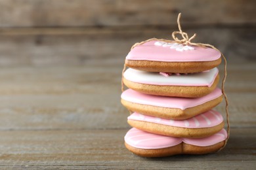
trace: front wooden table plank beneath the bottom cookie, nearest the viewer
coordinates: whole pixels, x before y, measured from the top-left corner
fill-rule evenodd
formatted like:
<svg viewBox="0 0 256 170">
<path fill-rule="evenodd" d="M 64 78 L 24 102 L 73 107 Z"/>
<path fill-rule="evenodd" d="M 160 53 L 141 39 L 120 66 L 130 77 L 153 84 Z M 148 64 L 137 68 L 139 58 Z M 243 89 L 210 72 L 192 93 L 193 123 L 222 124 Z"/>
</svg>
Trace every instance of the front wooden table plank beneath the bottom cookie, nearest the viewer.
<svg viewBox="0 0 256 170">
<path fill-rule="evenodd" d="M 146 159 L 123 144 L 127 129 L 90 131 L 0 131 L 0 167 L 32 169 L 254 169 L 255 128 L 232 129 L 215 154 Z"/>
</svg>

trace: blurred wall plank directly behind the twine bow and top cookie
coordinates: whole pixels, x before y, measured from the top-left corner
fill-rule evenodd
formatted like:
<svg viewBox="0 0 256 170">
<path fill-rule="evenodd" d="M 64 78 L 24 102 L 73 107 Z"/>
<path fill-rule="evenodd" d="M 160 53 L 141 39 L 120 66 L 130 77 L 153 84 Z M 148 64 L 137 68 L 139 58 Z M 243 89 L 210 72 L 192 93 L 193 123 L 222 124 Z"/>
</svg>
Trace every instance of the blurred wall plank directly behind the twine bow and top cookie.
<svg viewBox="0 0 256 170">
<path fill-rule="evenodd" d="M 139 29 L 140 28 L 140 29 Z M 0 32 L 0 65 L 87 65 L 123 62 L 135 42 L 171 39 L 177 28 L 12 29 Z M 195 42 L 217 46 L 230 62 L 255 59 L 256 29 L 198 28 Z"/>
</svg>

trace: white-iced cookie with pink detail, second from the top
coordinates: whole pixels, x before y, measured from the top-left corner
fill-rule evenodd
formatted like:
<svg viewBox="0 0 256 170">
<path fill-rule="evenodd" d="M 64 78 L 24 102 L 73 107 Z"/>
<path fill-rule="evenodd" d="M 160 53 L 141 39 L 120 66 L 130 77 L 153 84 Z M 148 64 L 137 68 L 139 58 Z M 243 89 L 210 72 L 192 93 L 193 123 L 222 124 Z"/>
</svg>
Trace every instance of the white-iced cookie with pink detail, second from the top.
<svg viewBox="0 0 256 170">
<path fill-rule="evenodd" d="M 123 83 L 133 90 L 152 95 L 202 97 L 212 92 L 219 82 L 217 67 L 201 73 L 167 74 L 127 69 Z"/>
</svg>

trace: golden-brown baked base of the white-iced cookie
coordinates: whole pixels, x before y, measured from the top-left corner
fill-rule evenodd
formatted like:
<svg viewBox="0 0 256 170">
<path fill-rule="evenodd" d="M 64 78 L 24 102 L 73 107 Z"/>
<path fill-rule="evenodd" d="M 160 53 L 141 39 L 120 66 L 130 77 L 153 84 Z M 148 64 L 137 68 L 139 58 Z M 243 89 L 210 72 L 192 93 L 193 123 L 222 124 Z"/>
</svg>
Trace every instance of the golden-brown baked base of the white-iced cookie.
<svg viewBox="0 0 256 170">
<path fill-rule="evenodd" d="M 216 76 L 213 84 L 208 86 L 160 86 L 152 84 L 142 84 L 132 82 L 123 78 L 123 83 L 128 88 L 141 93 L 147 93 L 152 95 L 163 95 L 171 97 L 203 97 L 213 90 L 215 90 L 219 82 L 219 74 Z"/>
</svg>

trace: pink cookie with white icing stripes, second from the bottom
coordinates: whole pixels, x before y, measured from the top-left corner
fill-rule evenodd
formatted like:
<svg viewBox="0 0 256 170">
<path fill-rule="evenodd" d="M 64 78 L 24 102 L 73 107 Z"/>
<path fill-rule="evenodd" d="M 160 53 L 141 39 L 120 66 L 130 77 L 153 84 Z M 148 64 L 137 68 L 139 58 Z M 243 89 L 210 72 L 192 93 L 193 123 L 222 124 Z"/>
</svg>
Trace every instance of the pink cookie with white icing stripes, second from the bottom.
<svg viewBox="0 0 256 170">
<path fill-rule="evenodd" d="M 137 129 L 171 137 L 209 137 L 224 127 L 223 116 L 209 110 L 186 120 L 163 119 L 134 112 L 128 124 Z"/>
</svg>

